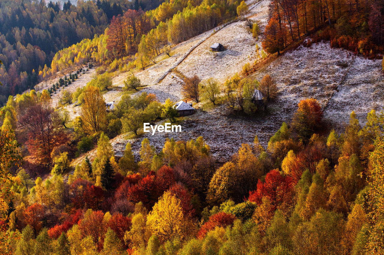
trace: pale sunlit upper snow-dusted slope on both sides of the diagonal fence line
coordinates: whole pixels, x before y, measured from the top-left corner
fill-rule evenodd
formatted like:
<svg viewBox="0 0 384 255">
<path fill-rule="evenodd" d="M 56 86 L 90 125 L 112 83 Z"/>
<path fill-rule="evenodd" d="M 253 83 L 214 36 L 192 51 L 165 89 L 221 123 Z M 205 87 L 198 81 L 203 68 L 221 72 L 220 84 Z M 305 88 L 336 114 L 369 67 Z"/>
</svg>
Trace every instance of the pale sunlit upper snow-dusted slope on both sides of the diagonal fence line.
<svg viewBox="0 0 384 255">
<path fill-rule="evenodd" d="M 248 0 L 250 13 L 247 17 L 253 21 L 259 20 L 265 23 L 268 19 L 269 2 L 269 0 Z M 201 41 L 203 42 L 201 43 Z M 226 50 L 222 52 L 210 51 L 210 46 L 216 42 L 223 44 Z M 195 47 L 197 44 L 199 45 Z M 178 101 L 182 99 L 180 93 L 182 84 L 180 82 L 182 81 L 176 74 L 169 72 L 169 69 L 177 67 L 177 70 L 189 77 L 197 74 L 202 80 L 214 77 L 219 82 L 224 82 L 226 78 L 240 72 L 247 62 L 253 63 L 257 59 L 256 44 L 261 46 L 260 41 L 255 41 L 252 34 L 247 31 L 245 21 L 238 20 L 225 27 L 220 25 L 178 44 L 172 48 L 172 56 L 163 59 L 164 54 L 162 54 L 157 57 L 157 60 L 161 61 L 147 67 L 144 71 L 135 73 L 135 75 L 143 85 L 148 86 L 141 91 L 156 93 L 160 101 L 167 98 Z M 190 54 L 178 64 L 180 59 L 183 59 L 189 51 L 191 51 Z M 164 74 L 167 75 L 162 79 Z M 113 80 L 114 85 L 122 87 L 123 81 L 129 75 L 129 72 L 118 75 Z M 159 80 L 161 81 L 158 82 Z M 107 94 L 109 101 L 118 101 L 121 98 L 119 91 L 116 93 L 108 92 Z"/>
</svg>

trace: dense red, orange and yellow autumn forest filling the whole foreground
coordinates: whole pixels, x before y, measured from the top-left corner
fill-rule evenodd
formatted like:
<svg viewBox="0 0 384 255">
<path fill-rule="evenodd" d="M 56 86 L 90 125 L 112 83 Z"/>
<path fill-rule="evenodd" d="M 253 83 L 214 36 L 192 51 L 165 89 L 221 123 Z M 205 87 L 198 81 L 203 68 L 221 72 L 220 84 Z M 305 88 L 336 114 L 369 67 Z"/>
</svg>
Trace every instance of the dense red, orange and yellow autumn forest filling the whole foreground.
<svg viewBox="0 0 384 255">
<path fill-rule="evenodd" d="M 360 126 L 351 113 L 343 133 L 323 136 L 319 103 L 303 100 L 266 150 L 256 137 L 220 167 L 203 137 L 158 153 L 144 139 L 136 162 L 129 143 L 115 160 L 102 134 L 67 181 L 20 170 L 4 182 L 13 209 L 1 251 L 382 254 L 383 121 L 372 110 Z M 12 130 L 1 131 L 2 152 L 15 155 Z"/>
</svg>

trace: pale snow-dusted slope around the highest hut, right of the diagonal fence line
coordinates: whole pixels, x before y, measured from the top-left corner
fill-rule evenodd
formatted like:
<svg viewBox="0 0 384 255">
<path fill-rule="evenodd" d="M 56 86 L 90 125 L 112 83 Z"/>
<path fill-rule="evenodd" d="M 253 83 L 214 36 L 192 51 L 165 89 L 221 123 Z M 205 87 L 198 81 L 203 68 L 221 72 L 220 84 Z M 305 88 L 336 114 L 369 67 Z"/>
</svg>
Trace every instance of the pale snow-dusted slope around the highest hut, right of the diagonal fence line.
<svg viewBox="0 0 384 255">
<path fill-rule="evenodd" d="M 269 2 L 247 1 L 250 19 L 266 22 Z M 214 43 L 221 43 L 226 48 L 225 51 L 210 51 L 210 46 Z M 261 46 L 261 42 L 255 41 L 247 31 L 245 21 L 237 21 L 200 44 L 177 69 L 189 77 L 197 74 L 202 80 L 214 77 L 219 82 L 224 82 L 240 72 L 247 62 L 252 64 L 257 59 L 256 43 Z"/>
</svg>

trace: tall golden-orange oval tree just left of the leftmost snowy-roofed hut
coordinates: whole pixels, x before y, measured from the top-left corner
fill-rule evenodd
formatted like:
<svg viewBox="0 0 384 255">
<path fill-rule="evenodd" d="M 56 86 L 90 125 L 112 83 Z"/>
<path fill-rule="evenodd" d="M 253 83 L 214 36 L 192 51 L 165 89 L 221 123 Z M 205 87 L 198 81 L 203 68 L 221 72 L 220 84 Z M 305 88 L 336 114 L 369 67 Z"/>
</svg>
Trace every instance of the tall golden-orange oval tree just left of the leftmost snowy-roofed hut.
<svg viewBox="0 0 384 255">
<path fill-rule="evenodd" d="M 81 120 L 89 134 L 102 131 L 106 125 L 106 105 L 99 88 L 87 86 L 83 92 L 84 103 L 81 105 Z"/>
</svg>

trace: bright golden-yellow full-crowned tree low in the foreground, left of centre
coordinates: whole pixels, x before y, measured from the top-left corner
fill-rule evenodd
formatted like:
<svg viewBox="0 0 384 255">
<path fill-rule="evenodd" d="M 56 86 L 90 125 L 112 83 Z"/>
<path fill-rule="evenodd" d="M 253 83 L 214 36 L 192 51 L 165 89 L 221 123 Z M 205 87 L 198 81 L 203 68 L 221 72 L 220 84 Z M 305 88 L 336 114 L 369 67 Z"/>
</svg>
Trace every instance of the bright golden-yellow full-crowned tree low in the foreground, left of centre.
<svg viewBox="0 0 384 255">
<path fill-rule="evenodd" d="M 194 229 L 190 219 L 185 218 L 180 200 L 166 191 L 148 214 L 147 225 L 163 241 L 185 239 Z"/>
</svg>

